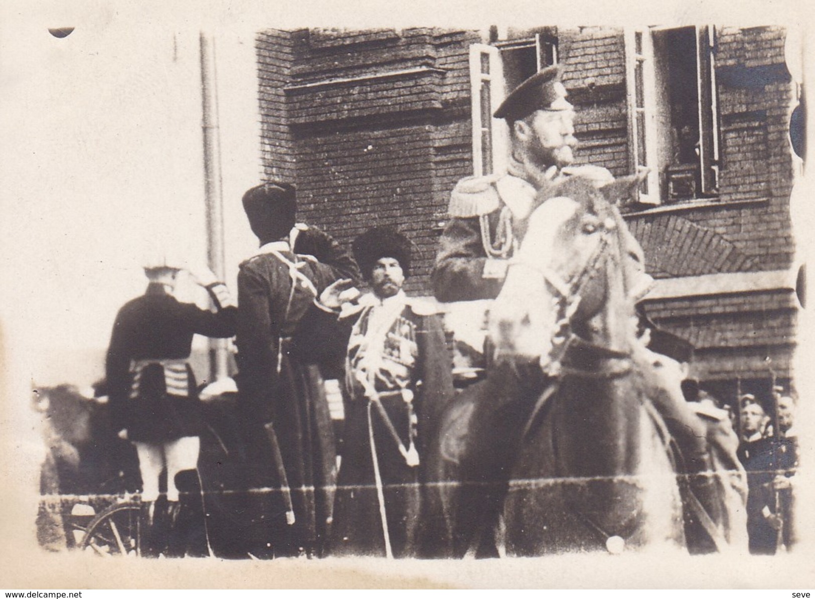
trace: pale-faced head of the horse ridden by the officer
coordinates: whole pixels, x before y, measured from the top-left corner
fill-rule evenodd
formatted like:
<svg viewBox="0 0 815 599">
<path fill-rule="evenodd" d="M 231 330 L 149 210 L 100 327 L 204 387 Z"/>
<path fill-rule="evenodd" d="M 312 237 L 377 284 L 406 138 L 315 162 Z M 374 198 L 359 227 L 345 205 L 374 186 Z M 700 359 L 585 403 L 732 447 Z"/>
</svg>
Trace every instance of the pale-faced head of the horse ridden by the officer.
<svg viewBox="0 0 815 599">
<path fill-rule="evenodd" d="M 621 178 L 597 187 L 575 176 L 547 190 L 557 195 L 539 198 L 491 309 L 496 359 L 537 359 L 546 368 L 567 319 L 600 311 L 610 287 L 622 288 L 629 298 L 648 288 L 642 250 L 612 204 L 640 181 L 641 176 Z M 622 277 L 606 280 L 610 267 L 601 265 L 606 259 L 620 262 L 615 272 Z M 628 311 L 633 298 L 625 303 Z"/>
</svg>

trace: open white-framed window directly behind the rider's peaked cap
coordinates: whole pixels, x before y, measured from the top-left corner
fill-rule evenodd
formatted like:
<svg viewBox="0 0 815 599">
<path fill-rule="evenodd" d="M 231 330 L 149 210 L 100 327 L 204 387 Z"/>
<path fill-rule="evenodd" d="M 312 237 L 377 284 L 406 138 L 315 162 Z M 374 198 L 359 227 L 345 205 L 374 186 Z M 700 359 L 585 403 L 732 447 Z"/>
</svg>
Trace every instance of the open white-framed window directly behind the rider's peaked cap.
<svg viewBox="0 0 815 599">
<path fill-rule="evenodd" d="M 502 173 L 507 166 L 509 131 L 496 112 L 509 90 L 549 64 L 557 63 L 557 39 L 535 34 L 469 48 L 475 175 Z"/>
</svg>

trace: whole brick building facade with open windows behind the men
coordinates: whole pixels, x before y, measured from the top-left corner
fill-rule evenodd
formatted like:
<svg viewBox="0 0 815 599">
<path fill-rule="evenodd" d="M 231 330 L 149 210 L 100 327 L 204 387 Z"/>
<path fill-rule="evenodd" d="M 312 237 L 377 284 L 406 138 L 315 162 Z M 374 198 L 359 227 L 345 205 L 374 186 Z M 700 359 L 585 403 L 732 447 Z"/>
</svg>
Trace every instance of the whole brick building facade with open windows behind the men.
<svg viewBox="0 0 815 599">
<path fill-rule="evenodd" d="M 343 242 L 399 227 L 418 253 L 407 291 L 430 295 L 450 190 L 504 168 L 492 112 L 562 64 L 576 162 L 649 169 L 624 212 L 658 280 L 650 318 L 694 345 L 693 375 L 721 399 L 769 398 L 792 385 L 802 301 L 785 40 L 780 27 L 265 30 L 263 176 L 296 183 L 302 220 Z"/>
</svg>

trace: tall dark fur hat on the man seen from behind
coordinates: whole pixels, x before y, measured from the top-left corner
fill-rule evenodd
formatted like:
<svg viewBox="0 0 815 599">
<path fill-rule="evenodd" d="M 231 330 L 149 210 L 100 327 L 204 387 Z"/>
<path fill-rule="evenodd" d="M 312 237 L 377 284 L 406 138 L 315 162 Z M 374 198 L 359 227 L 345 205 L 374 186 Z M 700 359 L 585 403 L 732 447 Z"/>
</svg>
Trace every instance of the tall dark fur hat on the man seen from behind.
<svg viewBox="0 0 815 599">
<path fill-rule="evenodd" d="M 252 187 L 244 194 L 249 226 L 262 243 L 289 235 L 297 218 L 297 198 L 291 183 L 271 181 Z"/>
</svg>

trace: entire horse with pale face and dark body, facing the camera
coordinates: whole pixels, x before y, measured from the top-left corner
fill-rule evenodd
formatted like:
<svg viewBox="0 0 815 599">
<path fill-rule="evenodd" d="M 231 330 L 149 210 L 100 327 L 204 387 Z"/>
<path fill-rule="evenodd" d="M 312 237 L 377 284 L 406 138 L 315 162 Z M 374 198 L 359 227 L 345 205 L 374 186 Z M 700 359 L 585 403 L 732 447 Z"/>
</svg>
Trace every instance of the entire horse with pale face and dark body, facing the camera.
<svg viewBox="0 0 815 599">
<path fill-rule="evenodd" d="M 571 178 L 539 197 L 491 311 L 496 367 L 447 408 L 430 456 L 436 555 L 685 544 L 650 403 L 672 381 L 637 340 L 641 250 L 609 201 L 634 184 Z"/>
</svg>

